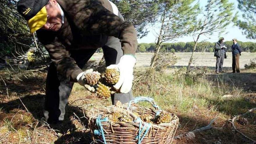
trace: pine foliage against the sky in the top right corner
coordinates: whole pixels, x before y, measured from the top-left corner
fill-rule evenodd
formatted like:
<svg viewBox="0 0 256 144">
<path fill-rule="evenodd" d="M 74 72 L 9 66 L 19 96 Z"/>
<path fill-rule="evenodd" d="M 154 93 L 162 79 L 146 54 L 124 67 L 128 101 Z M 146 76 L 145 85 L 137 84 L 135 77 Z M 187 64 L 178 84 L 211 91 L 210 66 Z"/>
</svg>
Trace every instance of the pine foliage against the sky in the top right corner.
<svg viewBox="0 0 256 144">
<path fill-rule="evenodd" d="M 237 26 L 243 30 L 247 38 L 256 38 L 256 1 L 255 0 L 237 0 L 238 8 L 243 12 L 243 20 L 235 20 Z"/>
</svg>

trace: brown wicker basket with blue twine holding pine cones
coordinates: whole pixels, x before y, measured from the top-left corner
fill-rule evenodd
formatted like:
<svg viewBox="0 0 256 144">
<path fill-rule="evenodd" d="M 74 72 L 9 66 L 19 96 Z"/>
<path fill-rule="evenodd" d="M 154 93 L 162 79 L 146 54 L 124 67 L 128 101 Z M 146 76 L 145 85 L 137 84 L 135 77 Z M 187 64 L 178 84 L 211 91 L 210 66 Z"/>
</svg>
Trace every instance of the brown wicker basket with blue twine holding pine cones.
<svg viewBox="0 0 256 144">
<path fill-rule="evenodd" d="M 136 103 L 141 101 L 151 102 L 154 108 L 144 108 Z M 133 122 L 113 123 L 104 117 L 107 113 L 119 112 L 129 114 Z M 134 113 L 136 112 L 136 113 Z M 114 105 L 91 109 L 89 127 L 95 143 L 104 144 L 171 144 L 179 124 L 179 118 L 174 118 L 169 123 L 151 124 L 142 121 L 137 115 L 149 114 L 152 117 L 159 115 L 161 109 L 152 98 L 137 97 L 129 104 L 121 107 Z M 168 113 L 164 111 L 164 113 Z"/>
</svg>

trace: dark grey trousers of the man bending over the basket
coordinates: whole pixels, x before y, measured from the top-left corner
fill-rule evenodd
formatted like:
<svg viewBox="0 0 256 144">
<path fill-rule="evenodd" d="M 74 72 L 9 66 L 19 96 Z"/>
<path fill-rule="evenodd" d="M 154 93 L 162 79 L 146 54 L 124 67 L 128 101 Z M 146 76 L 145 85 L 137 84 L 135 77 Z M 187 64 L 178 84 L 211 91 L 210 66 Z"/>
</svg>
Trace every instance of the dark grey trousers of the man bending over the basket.
<svg viewBox="0 0 256 144">
<path fill-rule="evenodd" d="M 106 66 L 117 64 L 120 57 L 123 55 L 121 44 L 118 38 L 109 37 L 108 42 L 102 47 Z M 72 51 L 71 57 L 77 62 L 77 65 L 82 68 L 97 49 L 86 49 Z M 64 77 L 58 75 L 54 63 L 50 64 L 47 79 L 46 79 L 46 94 L 45 94 L 45 111 L 44 115 L 49 123 L 56 123 L 64 119 L 65 106 L 68 97 L 71 93 L 74 82 L 68 81 Z M 133 99 L 131 91 L 129 93 L 115 93 L 111 96 L 112 104 L 117 101 L 122 103 L 129 102 Z"/>
</svg>

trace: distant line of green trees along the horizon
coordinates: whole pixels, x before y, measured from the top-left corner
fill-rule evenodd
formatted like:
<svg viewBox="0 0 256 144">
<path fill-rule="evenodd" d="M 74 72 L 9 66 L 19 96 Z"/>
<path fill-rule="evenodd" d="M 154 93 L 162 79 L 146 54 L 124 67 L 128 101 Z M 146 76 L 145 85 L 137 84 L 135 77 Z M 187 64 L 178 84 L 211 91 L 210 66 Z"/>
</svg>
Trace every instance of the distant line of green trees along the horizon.
<svg viewBox="0 0 256 144">
<path fill-rule="evenodd" d="M 227 52 L 231 52 L 232 41 L 224 42 L 227 47 Z M 238 41 L 242 50 L 245 52 L 256 52 L 255 42 L 240 42 Z M 175 42 L 163 43 L 160 52 L 192 52 L 194 42 Z M 200 42 L 195 50 L 196 52 L 214 52 L 215 42 Z M 155 43 L 140 43 L 138 44 L 137 52 L 154 52 L 156 49 Z"/>
</svg>

